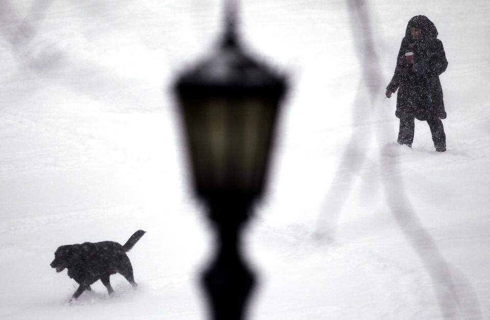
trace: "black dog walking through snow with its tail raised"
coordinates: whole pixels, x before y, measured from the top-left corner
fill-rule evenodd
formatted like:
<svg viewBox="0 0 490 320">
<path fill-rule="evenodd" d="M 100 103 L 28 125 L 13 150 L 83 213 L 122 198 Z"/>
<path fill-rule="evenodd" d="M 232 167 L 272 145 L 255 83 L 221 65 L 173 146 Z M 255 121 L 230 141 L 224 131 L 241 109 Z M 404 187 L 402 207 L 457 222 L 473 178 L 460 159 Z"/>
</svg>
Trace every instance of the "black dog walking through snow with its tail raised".
<svg viewBox="0 0 490 320">
<path fill-rule="evenodd" d="M 136 288 L 133 267 L 126 252 L 133 248 L 144 233 L 143 230 L 136 231 L 124 246 L 113 241 L 103 241 L 59 247 L 55 252 L 55 259 L 51 262 L 51 268 L 56 268 L 56 272 L 62 272 L 67 268 L 68 276 L 80 284 L 70 302 L 80 297 L 85 290 L 91 290 L 90 285 L 99 279 L 109 294 L 112 294 L 114 290 L 109 277 L 115 273 L 120 273 Z"/>
</svg>

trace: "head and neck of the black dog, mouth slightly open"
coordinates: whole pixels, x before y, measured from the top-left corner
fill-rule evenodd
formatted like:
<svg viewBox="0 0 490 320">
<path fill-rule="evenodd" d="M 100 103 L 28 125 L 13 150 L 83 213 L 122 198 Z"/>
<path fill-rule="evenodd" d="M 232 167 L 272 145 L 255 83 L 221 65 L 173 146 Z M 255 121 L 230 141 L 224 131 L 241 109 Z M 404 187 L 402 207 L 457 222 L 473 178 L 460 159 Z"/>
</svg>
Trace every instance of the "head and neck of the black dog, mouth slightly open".
<svg viewBox="0 0 490 320">
<path fill-rule="evenodd" d="M 56 272 L 62 272 L 65 268 L 80 264 L 90 258 L 93 244 L 84 243 L 82 245 L 66 245 L 56 249 L 55 259 L 51 262 L 51 268 L 56 268 Z"/>
</svg>

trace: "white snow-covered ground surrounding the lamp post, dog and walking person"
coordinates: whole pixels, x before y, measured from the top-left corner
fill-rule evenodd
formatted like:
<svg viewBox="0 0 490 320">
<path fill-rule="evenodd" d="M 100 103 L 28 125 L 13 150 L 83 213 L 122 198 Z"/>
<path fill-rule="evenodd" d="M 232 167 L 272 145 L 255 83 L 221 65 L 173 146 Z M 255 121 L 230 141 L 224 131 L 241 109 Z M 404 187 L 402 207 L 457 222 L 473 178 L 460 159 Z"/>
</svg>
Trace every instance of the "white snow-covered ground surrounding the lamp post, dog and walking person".
<svg viewBox="0 0 490 320">
<path fill-rule="evenodd" d="M 359 6 L 358 6 L 359 5 Z M 0 318 L 204 319 L 211 254 L 171 83 L 209 52 L 217 0 L 0 1 Z M 427 15 L 448 151 L 384 98 L 406 23 Z M 248 49 L 290 75 L 267 194 L 246 234 L 251 319 L 490 318 L 490 2 L 242 1 Z M 75 305 L 60 245 L 124 243 Z"/>
</svg>

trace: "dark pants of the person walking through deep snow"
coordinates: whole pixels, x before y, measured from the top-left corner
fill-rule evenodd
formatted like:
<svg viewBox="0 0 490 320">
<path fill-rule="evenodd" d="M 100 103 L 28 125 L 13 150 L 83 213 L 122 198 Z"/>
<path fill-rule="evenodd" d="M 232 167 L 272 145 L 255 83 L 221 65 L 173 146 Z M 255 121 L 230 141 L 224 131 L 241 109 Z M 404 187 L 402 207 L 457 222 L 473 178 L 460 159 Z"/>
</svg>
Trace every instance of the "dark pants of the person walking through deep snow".
<svg viewBox="0 0 490 320">
<path fill-rule="evenodd" d="M 430 133 L 432 134 L 432 142 L 437 151 L 446 151 L 446 134 L 444 133 L 443 122 L 440 119 L 429 119 Z M 412 146 L 413 135 L 415 132 L 415 119 L 404 118 L 400 119 L 400 130 L 398 131 L 398 143 Z"/>
</svg>

